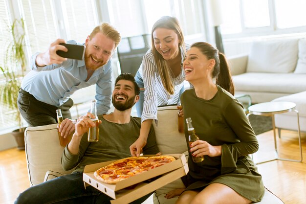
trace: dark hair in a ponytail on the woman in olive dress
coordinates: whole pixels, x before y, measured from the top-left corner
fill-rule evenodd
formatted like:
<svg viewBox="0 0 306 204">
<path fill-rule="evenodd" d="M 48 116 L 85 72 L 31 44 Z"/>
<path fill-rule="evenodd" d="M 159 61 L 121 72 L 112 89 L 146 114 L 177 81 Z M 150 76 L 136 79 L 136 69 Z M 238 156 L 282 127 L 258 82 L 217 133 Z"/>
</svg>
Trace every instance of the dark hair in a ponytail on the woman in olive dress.
<svg viewBox="0 0 306 204">
<path fill-rule="evenodd" d="M 195 43 L 191 47 L 197 47 L 208 60 L 215 60 L 216 64 L 212 72 L 212 77 L 216 78 L 217 85 L 234 95 L 234 83 L 224 54 L 220 53 L 214 46 L 205 42 Z"/>
</svg>

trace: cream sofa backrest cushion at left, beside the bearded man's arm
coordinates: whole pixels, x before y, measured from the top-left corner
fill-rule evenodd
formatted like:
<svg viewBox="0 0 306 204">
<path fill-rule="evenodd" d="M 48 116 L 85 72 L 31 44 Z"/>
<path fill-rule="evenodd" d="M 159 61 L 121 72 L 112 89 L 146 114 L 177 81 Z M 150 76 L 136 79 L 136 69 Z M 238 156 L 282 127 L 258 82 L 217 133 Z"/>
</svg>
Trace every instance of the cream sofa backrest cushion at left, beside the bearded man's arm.
<svg viewBox="0 0 306 204">
<path fill-rule="evenodd" d="M 57 124 L 28 127 L 24 132 L 25 155 L 31 186 L 44 181 L 48 170 L 69 174 L 61 165 L 64 147 L 60 145 Z"/>
</svg>

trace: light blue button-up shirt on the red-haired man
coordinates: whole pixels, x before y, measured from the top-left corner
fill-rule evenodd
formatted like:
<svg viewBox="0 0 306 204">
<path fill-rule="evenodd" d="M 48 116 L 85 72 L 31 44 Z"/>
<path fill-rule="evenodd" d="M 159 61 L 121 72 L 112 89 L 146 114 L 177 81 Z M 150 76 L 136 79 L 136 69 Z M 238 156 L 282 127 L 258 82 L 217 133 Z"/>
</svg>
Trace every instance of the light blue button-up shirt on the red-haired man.
<svg viewBox="0 0 306 204">
<path fill-rule="evenodd" d="M 68 44 L 78 45 L 75 41 Z M 111 60 L 96 69 L 88 81 L 84 60 L 67 59 L 62 64 L 45 67 L 36 66 L 36 57 L 32 56 L 31 71 L 23 78 L 21 88 L 44 103 L 61 106 L 77 90 L 96 85 L 97 114 L 107 113 L 111 98 Z"/>
</svg>

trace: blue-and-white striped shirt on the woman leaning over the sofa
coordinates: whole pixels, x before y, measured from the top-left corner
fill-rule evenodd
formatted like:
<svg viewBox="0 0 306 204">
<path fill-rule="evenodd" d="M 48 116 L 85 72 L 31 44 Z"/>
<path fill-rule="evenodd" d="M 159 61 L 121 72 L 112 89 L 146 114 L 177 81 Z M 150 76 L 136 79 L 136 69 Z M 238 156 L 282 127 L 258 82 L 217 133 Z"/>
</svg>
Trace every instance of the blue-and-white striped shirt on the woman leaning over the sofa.
<svg viewBox="0 0 306 204">
<path fill-rule="evenodd" d="M 189 50 L 189 45 L 186 46 L 186 51 Z M 173 78 L 172 82 L 175 87 L 175 93 L 170 94 L 163 86 L 157 66 L 153 57 L 152 49 L 144 55 L 142 64 L 139 68 L 139 74 L 144 83 L 145 100 L 143 104 L 143 112 L 141 115 L 141 122 L 154 119 L 157 124 L 157 106 L 177 104 L 179 99 L 179 91 L 184 86 L 185 72 L 183 69 L 183 61 L 185 59 L 185 52 L 181 47 L 181 72 Z"/>
</svg>

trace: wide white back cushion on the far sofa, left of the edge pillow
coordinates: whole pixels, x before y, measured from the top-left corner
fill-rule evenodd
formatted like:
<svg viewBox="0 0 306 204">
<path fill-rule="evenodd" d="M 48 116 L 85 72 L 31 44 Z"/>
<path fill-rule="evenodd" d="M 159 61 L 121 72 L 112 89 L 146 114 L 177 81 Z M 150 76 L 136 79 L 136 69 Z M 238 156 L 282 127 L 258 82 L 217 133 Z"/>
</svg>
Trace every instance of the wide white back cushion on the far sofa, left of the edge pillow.
<svg viewBox="0 0 306 204">
<path fill-rule="evenodd" d="M 298 39 L 254 42 L 246 72 L 293 72 L 298 60 Z"/>
</svg>

